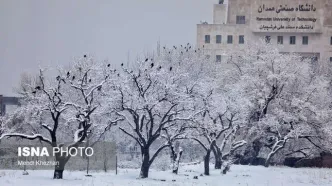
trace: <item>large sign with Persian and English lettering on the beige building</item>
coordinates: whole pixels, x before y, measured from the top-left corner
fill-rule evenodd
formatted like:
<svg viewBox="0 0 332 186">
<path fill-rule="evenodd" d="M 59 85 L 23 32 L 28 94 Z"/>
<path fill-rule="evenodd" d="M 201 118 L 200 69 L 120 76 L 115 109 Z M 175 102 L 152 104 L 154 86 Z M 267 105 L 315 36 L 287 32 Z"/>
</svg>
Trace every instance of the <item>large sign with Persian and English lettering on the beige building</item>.
<svg viewBox="0 0 332 186">
<path fill-rule="evenodd" d="M 303 3 L 304 2 L 304 3 Z M 264 1 L 251 6 L 253 32 L 322 32 L 318 1 Z"/>
</svg>

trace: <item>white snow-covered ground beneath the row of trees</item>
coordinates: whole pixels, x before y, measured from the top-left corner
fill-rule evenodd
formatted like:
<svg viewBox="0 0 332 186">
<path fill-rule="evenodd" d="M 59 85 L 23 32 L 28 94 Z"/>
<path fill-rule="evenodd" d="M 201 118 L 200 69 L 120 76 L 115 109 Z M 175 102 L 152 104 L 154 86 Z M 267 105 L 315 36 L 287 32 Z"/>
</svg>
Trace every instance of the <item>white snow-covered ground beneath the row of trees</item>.
<svg viewBox="0 0 332 186">
<path fill-rule="evenodd" d="M 202 165 L 181 167 L 179 175 L 151 170 L 148 179 L 137 179 L 139 170 L 134 169 L 120 169 L 118 175 L 93 172 L 92 177 L 66 171 L 63 180 L 51 179 L 52 171 L 29 171 L 24 176 L 22 171 L 0 170 L 0 186 L 332 186 L 332 169 L 234 165 L 231 172 L 221 175 L 211 166 L 211 176 L 200 176 L 202 170 Z"/>
</svg>

